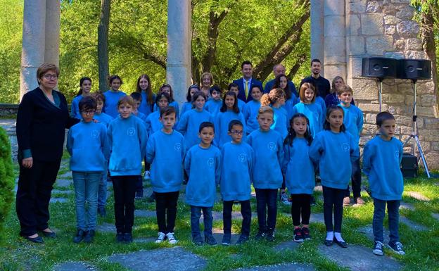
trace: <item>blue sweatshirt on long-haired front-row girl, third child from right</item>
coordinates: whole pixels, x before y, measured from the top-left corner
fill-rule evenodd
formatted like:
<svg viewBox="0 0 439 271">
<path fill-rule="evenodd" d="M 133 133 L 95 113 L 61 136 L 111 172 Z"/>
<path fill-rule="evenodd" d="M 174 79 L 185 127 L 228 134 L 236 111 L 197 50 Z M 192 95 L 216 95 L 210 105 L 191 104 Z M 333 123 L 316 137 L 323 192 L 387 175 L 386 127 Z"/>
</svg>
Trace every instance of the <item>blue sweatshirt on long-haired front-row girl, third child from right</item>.
<svg viewBox="0 0 439 271">
<path fill-rule="evenodd" d="M 312 194 L 314 191 L 314 164 L 308 155 L 310 146 L 304 138 L 295 137 L 292 146 L 284 145 L 285 184 L 290 194 Z"/>
</svg>

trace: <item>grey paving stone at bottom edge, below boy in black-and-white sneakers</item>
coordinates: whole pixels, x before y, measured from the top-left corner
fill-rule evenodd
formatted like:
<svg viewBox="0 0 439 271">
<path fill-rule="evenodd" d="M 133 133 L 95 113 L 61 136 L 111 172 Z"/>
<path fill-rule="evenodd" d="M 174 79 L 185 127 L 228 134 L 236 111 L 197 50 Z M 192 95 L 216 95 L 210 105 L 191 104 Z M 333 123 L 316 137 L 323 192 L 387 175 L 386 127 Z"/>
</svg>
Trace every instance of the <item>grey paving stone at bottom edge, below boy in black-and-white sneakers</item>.
<svg viewBox="0 0 439 271">
<path fill-rule="evenodd" d="M 115 254 L 110 256 L 108 260 L 113 263 L 120 263 L 129 270 L 135 271 L 196 271 L 203 270 L 207 265 L 205 259 L 178 246 L 153 251 Z"/>
</svg>

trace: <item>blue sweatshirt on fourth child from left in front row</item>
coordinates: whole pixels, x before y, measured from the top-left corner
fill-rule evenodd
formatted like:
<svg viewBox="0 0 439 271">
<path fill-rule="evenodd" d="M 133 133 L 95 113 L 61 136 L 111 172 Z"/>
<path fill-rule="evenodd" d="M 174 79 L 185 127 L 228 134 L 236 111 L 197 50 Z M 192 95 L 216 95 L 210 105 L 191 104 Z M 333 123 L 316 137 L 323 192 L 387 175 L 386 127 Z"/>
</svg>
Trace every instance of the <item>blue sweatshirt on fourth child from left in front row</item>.
<svg viewBox="0 0 439 271">
<path fill-rule="evenodd" d="M 186 185 L 186 203 L 191 206 L 212 207 L 215 203 L 216 186 L 221 177 L 221 152 L 210 145 L 203 149 L 192 146 L 184 158 L 184 170 L 189 176 Z"/>
</svg>

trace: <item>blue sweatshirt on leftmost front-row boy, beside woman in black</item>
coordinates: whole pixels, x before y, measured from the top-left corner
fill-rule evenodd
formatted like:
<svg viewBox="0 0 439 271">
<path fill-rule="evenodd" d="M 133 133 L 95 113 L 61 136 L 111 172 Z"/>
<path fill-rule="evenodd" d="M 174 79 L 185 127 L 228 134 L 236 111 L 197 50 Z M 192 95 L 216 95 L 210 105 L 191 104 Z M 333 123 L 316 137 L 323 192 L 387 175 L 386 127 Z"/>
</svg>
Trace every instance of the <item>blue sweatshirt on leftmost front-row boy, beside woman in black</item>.
<svg viewBox="0 0 439 271">
<path fill-rule="evenodd" d="M 70 170 L 103 172 L 110 153 L 106 126 L 93 121 L 73 125 L 68 131 L 67 151 L 70 153 Z"/>
</svg>

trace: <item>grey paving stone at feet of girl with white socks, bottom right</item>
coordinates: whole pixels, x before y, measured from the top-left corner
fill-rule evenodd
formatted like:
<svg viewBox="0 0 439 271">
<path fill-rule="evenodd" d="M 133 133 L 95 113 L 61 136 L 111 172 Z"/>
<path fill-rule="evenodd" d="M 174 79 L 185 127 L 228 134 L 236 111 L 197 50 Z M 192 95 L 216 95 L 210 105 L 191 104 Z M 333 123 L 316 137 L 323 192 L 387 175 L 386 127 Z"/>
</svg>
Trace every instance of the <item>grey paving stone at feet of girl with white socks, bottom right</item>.
<svg viewBox="0 0 439 271">
<path fill-rule="evenodd" d="M 365 246 L 349 245 L 348 248 L 333 246 L 319 246 L 319 252 L 338 265 L 348 267 L 352 271 L 369 270 L 401 270 L 402 265 L 388 256 L 376 256 L 372 253 L 372 248 Z"/>
</svg>

